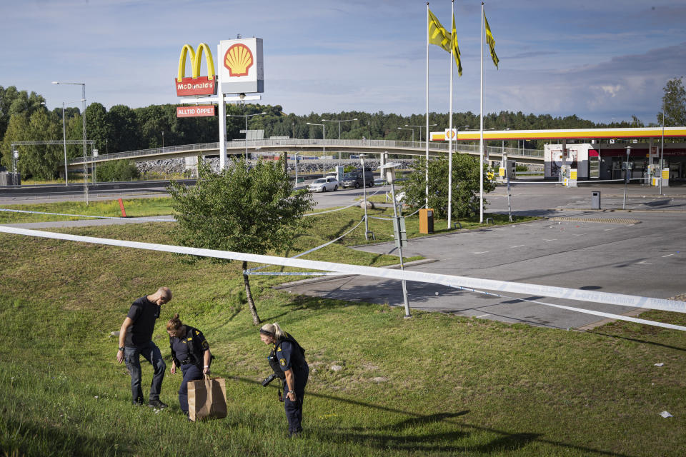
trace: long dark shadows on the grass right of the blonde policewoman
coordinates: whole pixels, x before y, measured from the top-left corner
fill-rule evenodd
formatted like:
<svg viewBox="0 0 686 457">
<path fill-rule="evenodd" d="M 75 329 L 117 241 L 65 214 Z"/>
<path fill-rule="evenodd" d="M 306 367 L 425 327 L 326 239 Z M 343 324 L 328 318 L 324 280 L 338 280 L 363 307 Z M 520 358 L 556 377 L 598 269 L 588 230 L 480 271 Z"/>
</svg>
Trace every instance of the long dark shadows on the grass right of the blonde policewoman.
<svg viewBox="0 0 686 457">
<path fill-rule="evenodd" d="M 241 381 L 249 384 L 258 384 L 259 381 L 254 381 L 250 378 L 242 378 L 239 376 L 232 376 L 235 381 Z M 370 408 L 379 411 L 387 411 L 389 413 L 398 413 L 406 416 L 412 416 L 403 419 L 397 423 L 387 426 L 378 427 L 350 427 L 350 428 L 316 428 L 314 433 L 316 438 L 328 439 L 335 442 L 352 441 L 364 446 L 372 446 L 378 449 L 392 448 L 395 451 L 423 451 L 423 452 L 472 452 L 472 453 L 497 453 L 502 451 L 515 451 L 517 449 L 527 446 L 532 442 L 545 443 L 550 446 L 557 446 L 566 449 L 566 451 L 578 453 L 587 453 L 589 455 L 597 456 L 612 456 L 612 457 L 630 457 L 628 454 L 615 453 L 611 451 L 603 451 L 600 449 L 587 448 L 584 446 L 577 446 L 571 443 L 562 443 L 560 441 L 552 441 L 545 438 L 538 433 L 522 433 L 509 432 L 497 430 L 495 428 L 478 426 L 475 424 L 455 421 L 454 419 L 466 416 L 470 411 L 464 410 L 457 413 L 434 413 L 434 414 L 420 414 L 412 411 L 403 411 L 397 408 L 390 408 L 388 406 L 375 405 L 373 403 L 366 403 L 364 401 L 352 400 L 350 398 L 343 398 L 339 396 L 326 395 L 323 393 L 306 393 L 307 396 L 324 398 L 330 401 L 337 401 L 340 403 L 347 403 L 361 408 Z M 305 402 L 307 403 L 307 402 Z M 307 415 L 305 418 L 306 423 Z M 416 426 L 426 426 L 432 423 L 449 423 L 454 425 L 459 430 L 447 431 L 444 433 L 423 433 L 414 436 L 404 436 L 402 434 L 383 433 L 390 430 L 402 431 L 404 429 L 412 429 Z M 467 446 L 451 446 L 446 441 L 454 441 L 469 438 L 472 431 L 494 433 L 497 438 L 488 441 L 487 443 L 467 445 Z"/>
</svg>

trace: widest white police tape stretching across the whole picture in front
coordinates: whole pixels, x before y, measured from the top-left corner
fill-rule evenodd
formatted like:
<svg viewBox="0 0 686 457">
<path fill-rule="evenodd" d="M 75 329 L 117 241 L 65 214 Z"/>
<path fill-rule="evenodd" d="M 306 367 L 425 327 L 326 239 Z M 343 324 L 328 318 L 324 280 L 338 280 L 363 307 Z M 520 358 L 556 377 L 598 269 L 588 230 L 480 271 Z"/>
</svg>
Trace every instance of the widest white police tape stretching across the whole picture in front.
<svg viewBox="0 0 686 457">
<path fill-rule="evenodd" d="M 391 268 L 378 268 L 373 266 L 349 265 L 347 263 L 324 262 L 304 260 L 302 258 L 284 258 L 277 256 L 264 256 L 232 251 L 217 251 L 215 249 L 190 248 L 185 246 L 169 246 L 166 244 L 141 243 L 140 241 L 124 241 L 110 238 L 95 238 L 93 236 L 71 235 L 69 233 L 57 233 L 20 229 L 18 227 L 0 226 L 0 233 L 14 233 L 16 235 L 37 236 L 40 238 L 52 238 L 66 241 L 80 241 L 83 243 L 104 244 L 108 246 L 121 246 L 126 248 L 146 249 L 149 251 L 161 251 L 191 256 L 203 256 L 225 258 L 257 263 L 271 263 L 272 265 L 292 266 L 295 268 L 307 268 L 319 271 L 334 271 L 344 274 L 358 274 L 405 281 L 417 281 L 422 283 L 434 283 L 449 287 L 468 287 L 486 289 L 491 291 L 524 293 L 527 295 L 565 298 L 568 300 L 588 301 L 591 303 L 605 303 L 615 306 L 629 306 L 632 308 L 658 309 L 663 311 L 675 311 L 686 313 L 686 303 L 662 298 L 625 295 L 622 293 L 608 293 L 599 291 L 583 291 L 574 288 L 556 286 L 542 286 L 538 284 L 517 283 L 509 281 L 496 281 L 493 279 L 469 278 L 467 276 L 451 276 L 439 273 L 427 273 L 423 271 L 393 270 Z"/>
</svg>

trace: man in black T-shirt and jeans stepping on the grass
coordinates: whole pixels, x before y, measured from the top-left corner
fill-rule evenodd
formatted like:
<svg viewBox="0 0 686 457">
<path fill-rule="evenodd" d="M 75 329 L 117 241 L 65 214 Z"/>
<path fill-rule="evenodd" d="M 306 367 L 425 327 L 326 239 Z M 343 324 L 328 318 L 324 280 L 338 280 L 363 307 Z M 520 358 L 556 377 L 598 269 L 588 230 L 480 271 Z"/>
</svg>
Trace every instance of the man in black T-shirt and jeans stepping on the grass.
<svg viewBox="0 0 686 457">
<path fill-rule="evenodd" d="M 151 408 L 166 408 L 166 403 L 159 400 L 166 364 L 162 360 L 159 348 L 152 342 L 152 332 L 155 321 L 159 318 L 159 307 L 172 300 L 172 291 L 168 287 L 160 287 L 151 295 L 134 301 L 129 313 L 119 329 L 119 350 L 116 361 L 126 360 L 126 368 L 131 374 L 131 395 L 134 405 L 143 404 L 143 390 L 141 389 L 141 358 L 149 361 L 154 368 L 154 375 L 150 385 L 148 406 Z"/>
</svg>

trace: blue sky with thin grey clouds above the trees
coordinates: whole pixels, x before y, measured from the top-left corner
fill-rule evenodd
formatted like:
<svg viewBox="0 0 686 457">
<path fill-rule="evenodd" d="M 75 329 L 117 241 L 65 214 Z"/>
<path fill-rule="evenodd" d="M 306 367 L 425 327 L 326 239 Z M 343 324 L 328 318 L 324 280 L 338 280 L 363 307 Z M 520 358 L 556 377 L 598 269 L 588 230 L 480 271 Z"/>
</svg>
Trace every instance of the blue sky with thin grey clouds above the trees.
<svg viewBox="0 0 686 457">
<path fill-rule="evenodd" d="M 449 29 L 451 3 L 429 9 Z M 683 0 L 491 0 L 499 69 L 484 50 L 484 112 L 657 121 L 663 87 L 686 76 Z M 462 77 L 453 111 L 479 113 L 481 2 L 454 1 Z M 259 103 L 286 113 L 426 111 L 427 4 L 419 0 L 0 0 L 0 86 L 106 109 L 177 103 L 184 44 L 264 40 Z M 484 44 L 485 46 L 485 44 Z M 429 111 L 449 110 L 450 54 L 429 46 Z M 207 74 L 202 63 L 201 74 Z M 187 64 L 187 76 L 190 65 Z M 486 126 L 487 127 L 487 126 Z"/>
</svg>

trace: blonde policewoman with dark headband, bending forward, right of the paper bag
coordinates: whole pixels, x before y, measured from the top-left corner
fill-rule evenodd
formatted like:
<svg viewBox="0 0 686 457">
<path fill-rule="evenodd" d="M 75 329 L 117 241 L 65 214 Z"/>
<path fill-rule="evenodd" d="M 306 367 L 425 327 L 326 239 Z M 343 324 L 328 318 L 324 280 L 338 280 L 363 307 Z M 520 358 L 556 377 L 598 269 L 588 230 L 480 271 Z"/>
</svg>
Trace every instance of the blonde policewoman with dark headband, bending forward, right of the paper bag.
<svg viewBox="0 0 686 457">
<path fill-rule="evenodd" d="M 309 376 L 309 366 L 305 361 L 305 350 L 295 338 L 282 331 L 278 323 L 266 323 L 259 329 L 259 338 L 267 345 L 272 345 L 270 357 L 279 363 L 284 383 L 284 409 L 288 420 L 289 438 L 298 436 L 302 431 L 302 401 Z M 281 373 L 277 373 L 281 374 Z M 283 378 L 284 376 L 279 376 Z"/>
</svg>

